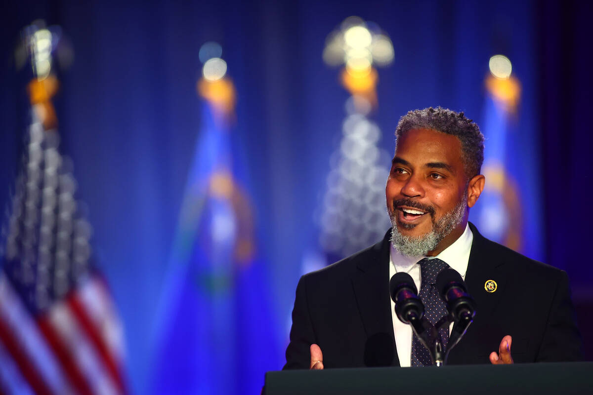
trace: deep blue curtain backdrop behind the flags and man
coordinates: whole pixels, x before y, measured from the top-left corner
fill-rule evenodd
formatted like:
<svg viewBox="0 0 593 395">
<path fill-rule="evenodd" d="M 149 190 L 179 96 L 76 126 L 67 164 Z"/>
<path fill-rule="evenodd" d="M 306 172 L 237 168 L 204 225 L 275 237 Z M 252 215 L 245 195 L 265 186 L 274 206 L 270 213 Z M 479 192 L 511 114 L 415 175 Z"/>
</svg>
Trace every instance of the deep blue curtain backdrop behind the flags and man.
<svg viewBox="0 0 593 395">
<path fill-rule="evenodd" d="M 380 146 L 390 152 L 397 120 L 410 109 L 442 105 L 486 120 L 488 59 L 511 59 L 522 86 L 513 138 L 529 152 L 528 161 L 519 152 L 512 163 L 537 199 L 525 213 L 541 224 L 528 253 L 568 271 L 585 329 L 593 316 L 586 313 L 593 265 L 582 258 L 591 238 L 591 8 L 510 0 L 9 2 L 0 24 L 0 203 L 8 198 L 27 115 L 26 81 L 11 66 L 12 49 L 24 25 L 44 18 L 62 26 L 75 50 L 56 102 L 62 146 L 74 160 L 97 261 L 125 325 L 131 387 L 149 393 L 162 364 L 157 306 L 166 305 L 178 214 L 203 133 L 197 54 L 205 41 L 218 41 L 237 89 L 235 155 L 253 202 L 257 267 L 268 279 L 260 286 L 274 316 L 271 365 L 280 368 L 304 253 L 317 243 L 313 213 L 349 96 L 321 53 L 327 34 L 358 15 L 394 44 L 394 63 L 378 70 L 375 116 Z M 257 352 L 244 349 L 228 363 Z M 254 362 L 250 380 L 263 384 L 266 369 Z"/>
</svg>

